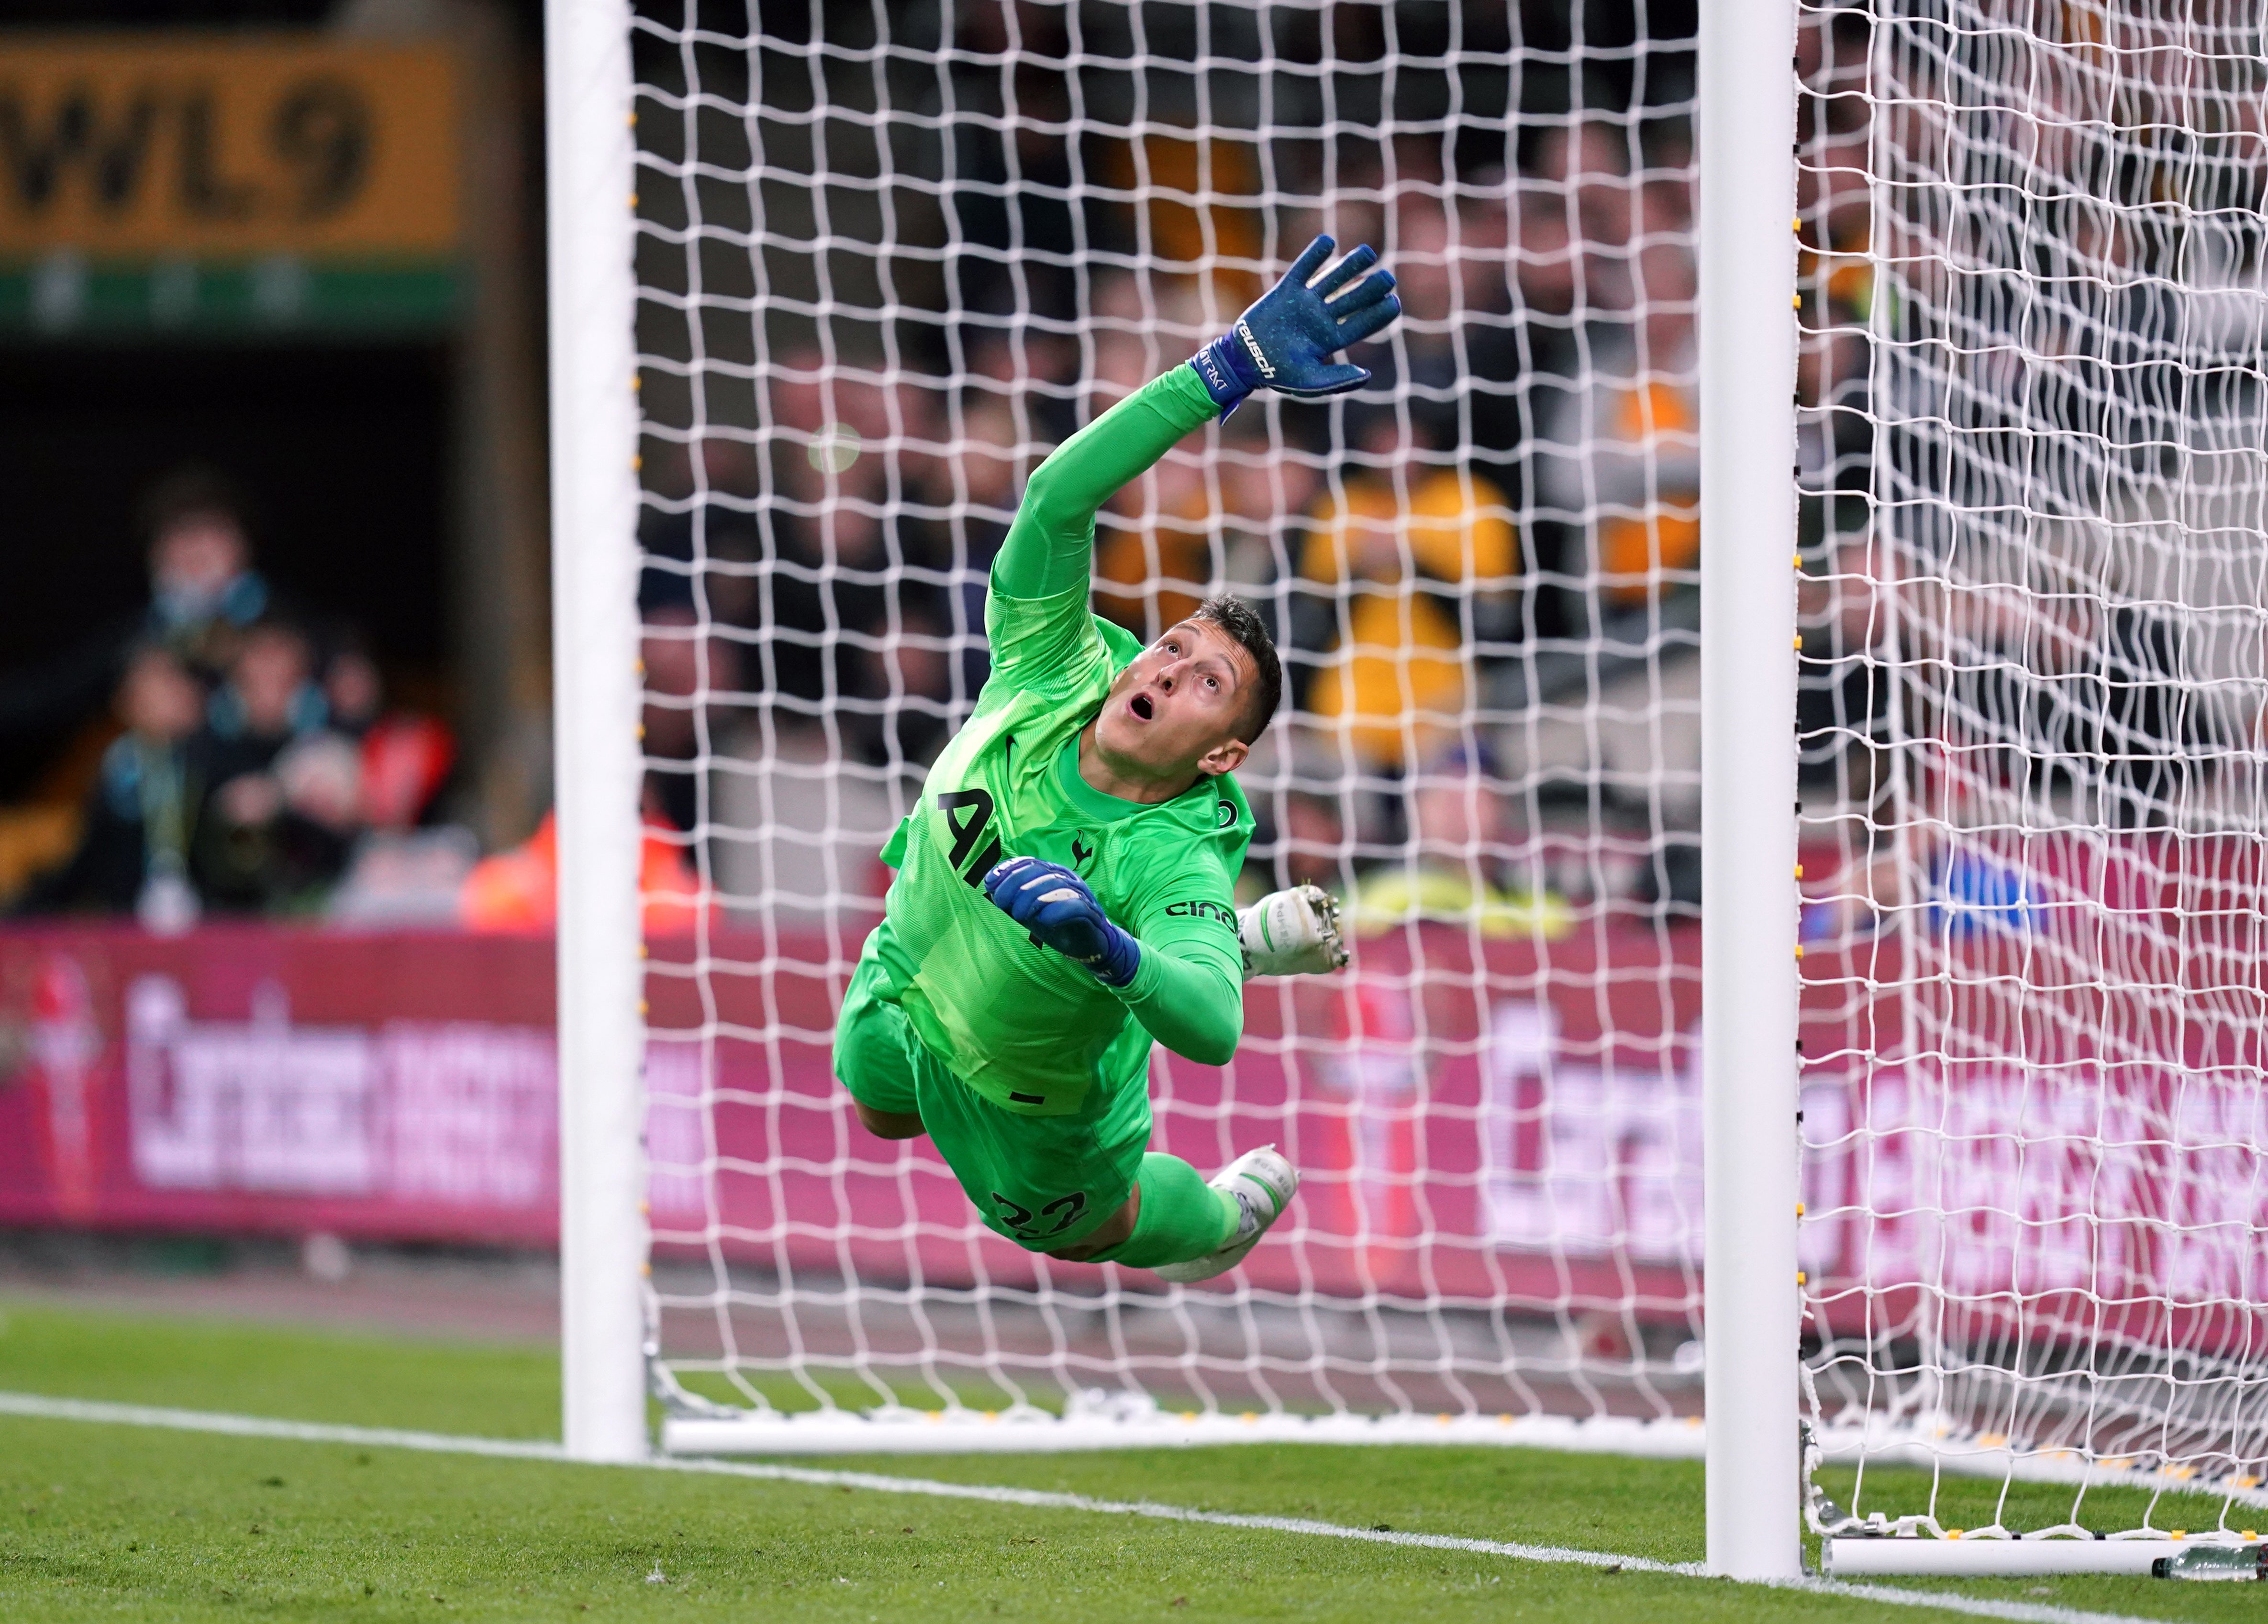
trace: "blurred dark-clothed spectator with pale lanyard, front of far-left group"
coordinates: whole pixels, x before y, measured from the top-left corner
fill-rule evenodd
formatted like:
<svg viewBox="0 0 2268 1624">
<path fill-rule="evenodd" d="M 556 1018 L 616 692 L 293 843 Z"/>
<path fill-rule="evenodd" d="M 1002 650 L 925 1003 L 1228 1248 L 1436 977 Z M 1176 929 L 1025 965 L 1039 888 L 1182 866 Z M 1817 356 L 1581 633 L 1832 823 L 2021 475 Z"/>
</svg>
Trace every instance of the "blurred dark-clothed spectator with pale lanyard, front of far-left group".
<svg viewBox="0 0 2268 1624">
<path fill-rule="evenodd" d="M 138 914 L 152 930 L 197 919 L 188 860 L 206 785 L 204 692 L 181 658 L 143 644 L 118 685 L 125 733 L 102 755 L 79 848 L 27 894 L 25 912 Z"/>
</svg>

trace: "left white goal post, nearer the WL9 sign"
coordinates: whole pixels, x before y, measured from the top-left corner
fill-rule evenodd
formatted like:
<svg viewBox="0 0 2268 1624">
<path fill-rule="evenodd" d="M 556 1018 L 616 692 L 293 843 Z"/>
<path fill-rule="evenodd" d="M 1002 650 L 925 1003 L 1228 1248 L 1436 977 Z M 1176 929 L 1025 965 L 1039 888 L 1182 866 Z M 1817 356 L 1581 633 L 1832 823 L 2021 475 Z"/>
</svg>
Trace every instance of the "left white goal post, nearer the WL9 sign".
<svg viewBox="0 0 2268 1624">
<path fill-rule="evenodd" d="M 646 1454 L 637 347 L 626 0 L 544 5 L 562 1438 Z"/>
</svg>

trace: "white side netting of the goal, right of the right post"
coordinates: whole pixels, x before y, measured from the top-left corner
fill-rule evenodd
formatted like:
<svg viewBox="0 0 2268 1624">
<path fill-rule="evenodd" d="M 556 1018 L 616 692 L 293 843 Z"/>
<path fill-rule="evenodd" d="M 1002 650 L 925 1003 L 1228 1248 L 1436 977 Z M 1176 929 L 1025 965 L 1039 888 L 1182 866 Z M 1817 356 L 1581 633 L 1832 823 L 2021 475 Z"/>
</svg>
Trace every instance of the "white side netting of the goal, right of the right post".
<svg viewBox="0 0 2268 1624">
<path fill-rule="evenodd" d="M 2241 1531 L 2261 14 L 1812 5 L 1796 66 L 1814 1526 Z"/>
</svg>

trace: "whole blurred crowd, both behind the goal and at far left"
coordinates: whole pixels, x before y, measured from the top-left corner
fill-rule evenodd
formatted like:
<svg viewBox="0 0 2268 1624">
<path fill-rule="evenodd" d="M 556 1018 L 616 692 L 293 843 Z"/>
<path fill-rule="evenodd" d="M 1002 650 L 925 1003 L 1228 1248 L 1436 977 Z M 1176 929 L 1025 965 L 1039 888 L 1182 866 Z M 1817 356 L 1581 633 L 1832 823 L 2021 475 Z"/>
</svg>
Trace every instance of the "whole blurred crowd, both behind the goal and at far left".
<svg viewBox="0 0 2268 1624">
<path fill-rule="evenodd" d="M 1805 794 L 1889 817 L 1878 587 L 1896 563 L 1867 501 L 1844 499 L 1871 481 L 1880 329 L 1853 41 L 1808 29 L 1799 61 L 1817 91 L 1796 220 L 1801 733 Z M 1000 98 L 964 88 L 975 111 Z M 689 919 L 708 882 L 726 898 L 880 885 L 794 869 L 844 835 L 871 860 L 975 703 L 984 578 L 1030 470 L 1218 333 L 1315 231 L 1374 243 L 1399 279 L 1404 320 L 1354 356 L 1372 386 L 1254 399 L 1129 485 L 1100 517 L 1098 612 L 1148 637 L 1227 587 L 1272 617 L 1288 696 L 1250 769 L 1270 787 L 1254 796 L 1254 885 L 1311 878 L 1370 923 L 1440 914 L 1522 934 L 1594 900 L 1690 912 L 1690 104 L 1524 118 L 1483 163 L 1433 136 L 1325 157 L 1154 129 L 1086 150 L 1082 172 L 1105 184 L 1068 204 L 1073 157 L 1039 136 L 1050 95 L 1018 70 L 1032 116 L 953 136 L 957 172 L 984 184 L 957 195 L 959 249 L 941 281 L 909 284 L 896 327 L 855 299 L 816 322 L 782 315 L 753 338 L 737 415 L 703 406 L 685 420 L 699 426 L 667 431 L 646 401 L 649 923 Z M 703 374 L 719 401 L 726 372 Z M 75 714 L 102 739 L 68 839 L 50 830 L 45 864 L 14 864 L 41 869 L 16 907 L 547 925 L 551 826 L 481 860 L 449 821 L 447 728 L 386 705 L 349 626 L 272 592 L 227 490 L 188 474 L 150 513 L 147 608 L 0 680 L 0 730 Z M 2116 823 L 2159 821 L 2164 773 L 2136 762 L 2209 744 L 2175 719 L 2175 628 L 2121 610 L 2066 631 L 2118 694 L 2071 696 L 2059 671 L 2025 669 L 2014 687 L 1914 687 L 1898 726 L 2062 730 L 2073 758 L 2109 762 L 2087 792 L 2116 801 Z M 1980 628 L 1978 646 L 2021 635 Z M 2084 665 L 2075 653 L 2075 680 L 2100 678 Z M 896 810 L 869 817 L 857 796 Z M 762 855 L 780 830 L 803 846 Z M 5 844 L 0 830 L 0 889 Z M 758 860 L 778 871 L 746 878 Z"/>
</svg>

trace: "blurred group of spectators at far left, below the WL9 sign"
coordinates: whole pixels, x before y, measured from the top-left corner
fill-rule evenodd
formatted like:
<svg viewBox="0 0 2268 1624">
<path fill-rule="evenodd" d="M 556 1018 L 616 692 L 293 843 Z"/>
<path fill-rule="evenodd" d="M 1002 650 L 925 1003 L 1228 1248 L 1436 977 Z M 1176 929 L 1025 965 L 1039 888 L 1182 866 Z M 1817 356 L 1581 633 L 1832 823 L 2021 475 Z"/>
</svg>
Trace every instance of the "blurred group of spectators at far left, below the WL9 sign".
<svg viewBox="0 0 2268 1624">
<path fill-rule="evenodd" d="M 73 739 L 61 817 L 7 823 L 14 910 L 454 919 L 476 851 L 438 821 L 449 728 L 390 708 L 354 626 L 261 574 L 218 474 L 166 479 L 145 531 L 147 603 L 0 680 L 0 728 Z"/>
</svg>

